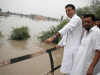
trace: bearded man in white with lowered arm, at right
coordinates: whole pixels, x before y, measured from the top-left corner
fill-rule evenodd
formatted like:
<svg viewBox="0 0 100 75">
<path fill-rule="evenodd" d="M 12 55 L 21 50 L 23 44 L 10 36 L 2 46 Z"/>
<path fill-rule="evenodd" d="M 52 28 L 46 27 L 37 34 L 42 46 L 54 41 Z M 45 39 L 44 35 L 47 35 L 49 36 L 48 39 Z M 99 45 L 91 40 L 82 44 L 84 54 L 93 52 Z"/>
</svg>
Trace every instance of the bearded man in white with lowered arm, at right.
<svg viewBox="0 0 100 75">
<path fill-rule="evenodd" d="M 95 75 L 94 67 L 100 57 L 100 30 L 95 26 L 95 16 L 85 15 L 86 32 L 75 56 L 71 75 Z"/>
</svg>

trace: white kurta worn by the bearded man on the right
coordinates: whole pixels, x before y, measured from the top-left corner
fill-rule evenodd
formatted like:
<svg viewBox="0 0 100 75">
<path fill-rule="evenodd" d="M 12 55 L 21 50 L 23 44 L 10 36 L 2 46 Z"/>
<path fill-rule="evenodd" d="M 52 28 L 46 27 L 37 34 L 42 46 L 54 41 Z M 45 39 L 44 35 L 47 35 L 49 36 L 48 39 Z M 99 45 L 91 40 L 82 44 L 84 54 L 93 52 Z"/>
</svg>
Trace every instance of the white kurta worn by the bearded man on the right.
<svg viewBox="0 0 100 75">
<path fill-rule="evenodd" d="M 89 31 L 89 34 L 86 35 L 85 32 L 82 38 L 71 75 L 86 75 L 97 49 L 100 50 L 100 30 L 94 26 Z"/>
</svg>

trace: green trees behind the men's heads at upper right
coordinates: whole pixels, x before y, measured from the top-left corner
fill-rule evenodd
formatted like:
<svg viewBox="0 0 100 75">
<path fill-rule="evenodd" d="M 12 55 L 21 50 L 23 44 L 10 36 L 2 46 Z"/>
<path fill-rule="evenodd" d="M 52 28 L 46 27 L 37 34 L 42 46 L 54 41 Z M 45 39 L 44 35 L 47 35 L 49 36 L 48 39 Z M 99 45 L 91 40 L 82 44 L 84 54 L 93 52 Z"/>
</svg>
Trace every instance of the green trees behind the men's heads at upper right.
<svg viewBox="0 0 100 75">
<path fill-rule="evenodd" d="M 89 6 L 77 8 L 76 13 L 78 16 L 81 16 L 81 14 L 94 14 L 96 18 L 100 18 L 100 1 L 92 0 Z"/>
</svg>

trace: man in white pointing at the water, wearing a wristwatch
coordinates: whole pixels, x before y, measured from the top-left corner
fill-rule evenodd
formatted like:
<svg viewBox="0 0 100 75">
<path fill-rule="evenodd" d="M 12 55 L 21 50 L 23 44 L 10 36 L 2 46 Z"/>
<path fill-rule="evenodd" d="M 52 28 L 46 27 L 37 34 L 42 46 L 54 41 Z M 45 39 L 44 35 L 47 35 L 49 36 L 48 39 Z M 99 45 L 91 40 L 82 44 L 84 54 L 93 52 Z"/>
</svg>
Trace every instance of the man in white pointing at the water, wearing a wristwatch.
<svg viewBox="0 0 100 75">
<path fill-rule="evenodd" d="M 67 23 L 60 31 L 54 36 L 48 38 L 44 43 L 51 43 L 54 38 L 59 36 L 65 36 L 64 54 L 61 65 L 61 72 L 64 74 L 70 74 L 76 51 L 80 45 L 82 21 L 80 17 L 75 14 L 75 7 L 72 4 L 65 6 L 66 14 L 71 18 L 70 22 Z"/>
</svg>

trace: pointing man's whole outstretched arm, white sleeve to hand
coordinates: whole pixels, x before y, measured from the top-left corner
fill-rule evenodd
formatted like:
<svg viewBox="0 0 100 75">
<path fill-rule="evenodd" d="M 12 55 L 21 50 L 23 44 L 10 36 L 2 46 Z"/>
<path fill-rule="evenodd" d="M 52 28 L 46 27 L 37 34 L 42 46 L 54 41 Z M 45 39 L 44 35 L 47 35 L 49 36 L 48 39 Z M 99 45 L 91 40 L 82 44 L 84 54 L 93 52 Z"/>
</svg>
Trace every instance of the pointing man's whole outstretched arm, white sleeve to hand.
<svg viewBox="0 0 100 75">
<path fill-rule="evenodd" d="M 64 36 L 69 30 L 74 31 L 74 29 L 77 26 L 77 23 L 79 22 L 79 18 L 73 18 L 67 25 L 65 25 L 60 31 L 58 31 L 55 36 L 59 37 L 59 36 Z M 80 22 L 81 23 L 81 22 Z M 80 25 L 82 26 L 82 25 Z M 50 44 L 54 39 L 54 36 L 48 38 L 45 43 Z"/>
</svg>

